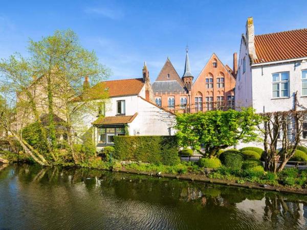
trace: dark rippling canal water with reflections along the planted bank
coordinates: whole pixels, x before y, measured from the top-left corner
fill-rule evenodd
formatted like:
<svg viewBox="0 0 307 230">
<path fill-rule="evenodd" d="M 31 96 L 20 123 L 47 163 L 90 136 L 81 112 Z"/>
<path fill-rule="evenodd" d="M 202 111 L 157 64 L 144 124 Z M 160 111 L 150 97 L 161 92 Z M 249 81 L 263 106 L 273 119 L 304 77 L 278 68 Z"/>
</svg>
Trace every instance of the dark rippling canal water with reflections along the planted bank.
<svg viewBox="0 0 307 230">
<path fill-rule="evenodd" d="M 0 165 L 0 229 L 306 229 L 305 196 L 84 168 Z"/>
</svg>

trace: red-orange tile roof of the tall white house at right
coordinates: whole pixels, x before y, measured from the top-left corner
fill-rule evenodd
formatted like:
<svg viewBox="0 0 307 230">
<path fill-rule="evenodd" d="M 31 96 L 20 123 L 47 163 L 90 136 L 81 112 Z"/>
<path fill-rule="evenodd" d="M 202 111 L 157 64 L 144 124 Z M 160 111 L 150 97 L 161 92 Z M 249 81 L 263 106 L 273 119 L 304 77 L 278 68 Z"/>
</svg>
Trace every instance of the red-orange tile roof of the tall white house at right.
<svg viewBox="0 0 307 230">
<path fill-rule="evenodd" d="M 307 57 L 307 29 L 255 35 L 254 63 Z"/>
</svg>

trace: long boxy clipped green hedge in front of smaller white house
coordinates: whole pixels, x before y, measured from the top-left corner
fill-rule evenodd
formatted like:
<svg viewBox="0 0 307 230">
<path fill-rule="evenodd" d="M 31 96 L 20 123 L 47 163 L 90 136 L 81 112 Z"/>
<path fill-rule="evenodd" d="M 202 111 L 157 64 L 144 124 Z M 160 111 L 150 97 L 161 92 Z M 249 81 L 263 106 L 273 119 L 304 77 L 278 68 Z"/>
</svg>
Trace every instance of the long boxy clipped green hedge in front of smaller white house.
<svg viewBox="0 0 307 230">
<path fill-rule="evenodd" d="M 176 136 L 114 136 L 114 158 L 163 165 L 180 163 Z"/>
</svg>

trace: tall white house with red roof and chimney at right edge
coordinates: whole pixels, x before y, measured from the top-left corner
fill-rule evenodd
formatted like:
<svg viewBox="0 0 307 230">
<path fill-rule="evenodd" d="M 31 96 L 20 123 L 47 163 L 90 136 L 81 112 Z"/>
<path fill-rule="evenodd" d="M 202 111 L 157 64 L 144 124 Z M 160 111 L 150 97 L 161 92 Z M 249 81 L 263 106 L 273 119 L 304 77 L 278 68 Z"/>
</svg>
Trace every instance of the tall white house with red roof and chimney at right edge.
<svg viewBox="0 0 307 230">
<path fill-rule="evenodd" d="M 242 35 L 235 107 L 256 112 L 307 109 L 307 29 L 254 34 L 253 18 Z M 307 140 L 307 123 L 302 139 Z"/>
</svg>

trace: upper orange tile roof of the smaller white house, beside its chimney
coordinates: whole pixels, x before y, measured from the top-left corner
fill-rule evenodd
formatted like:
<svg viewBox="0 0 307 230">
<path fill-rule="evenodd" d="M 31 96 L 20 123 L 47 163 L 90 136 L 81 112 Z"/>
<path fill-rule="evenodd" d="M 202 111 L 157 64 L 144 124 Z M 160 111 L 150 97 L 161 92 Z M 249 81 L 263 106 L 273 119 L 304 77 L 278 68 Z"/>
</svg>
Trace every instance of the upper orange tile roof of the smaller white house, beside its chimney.
<svg viewBox="0 0 307 230">
<path fill-rule="evenodd" d="M 144 86 L 143 78 L 103 81 L 93 86 L 95 90 L 99 87 L 107 89 L 109 97 L 138 95 Z"/>
</svg>

